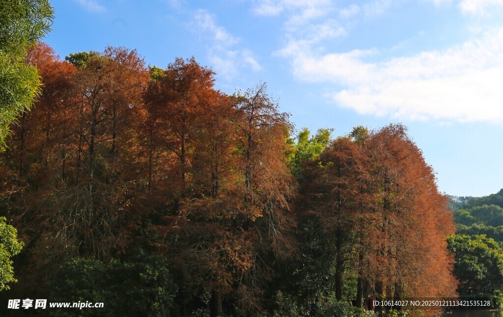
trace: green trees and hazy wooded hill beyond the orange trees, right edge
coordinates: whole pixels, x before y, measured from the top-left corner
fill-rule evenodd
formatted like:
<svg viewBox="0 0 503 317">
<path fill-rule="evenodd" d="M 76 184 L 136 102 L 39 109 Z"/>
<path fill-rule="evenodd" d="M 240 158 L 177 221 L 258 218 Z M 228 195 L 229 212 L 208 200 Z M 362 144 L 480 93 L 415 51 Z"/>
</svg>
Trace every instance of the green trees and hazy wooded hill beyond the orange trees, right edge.
<svg viewBox="0 0 503 317">
<path fill-rule="evenodd" d="M 459 199 L 458 199 L 459 200 Z M 503 303 L 503 189 L 485 197 L 469 197 L 454 213 L 456 235 L 448 238 L 455 256 L 454 275 L 464 296 L 494 298 Z"/>
</svg>

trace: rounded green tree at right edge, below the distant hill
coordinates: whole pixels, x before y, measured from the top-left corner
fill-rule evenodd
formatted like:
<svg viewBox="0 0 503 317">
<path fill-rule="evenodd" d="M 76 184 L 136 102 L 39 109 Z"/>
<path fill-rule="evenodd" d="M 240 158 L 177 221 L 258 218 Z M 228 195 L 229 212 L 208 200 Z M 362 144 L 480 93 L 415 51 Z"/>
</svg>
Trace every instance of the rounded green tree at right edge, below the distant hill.
<svg viewBox="0 0 503 317">
<path fill-rule="evenodd" d="M 447 243 L 454 254 L 460 294 L 498 294 L 503 287 L 503 250 L 498 243 L 484 235 L 459 234 L 450 236 Z"/>
</svg>

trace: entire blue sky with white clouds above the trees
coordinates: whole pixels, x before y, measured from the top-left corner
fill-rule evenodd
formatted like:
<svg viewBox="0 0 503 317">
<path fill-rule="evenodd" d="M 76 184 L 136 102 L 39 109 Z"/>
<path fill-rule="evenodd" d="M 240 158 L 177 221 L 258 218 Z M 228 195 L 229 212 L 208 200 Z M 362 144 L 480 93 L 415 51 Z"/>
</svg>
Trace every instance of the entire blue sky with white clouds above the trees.
<svg viewBox="0 0 503 317">
<path fill-rule="evenodd" d="M 403 123 L 439 189 L 503 187 L 503 0 L 51 0 L 62 58 L 194 56 L 227 93 L 268 83 L 297 129 Z"/>
</svg>

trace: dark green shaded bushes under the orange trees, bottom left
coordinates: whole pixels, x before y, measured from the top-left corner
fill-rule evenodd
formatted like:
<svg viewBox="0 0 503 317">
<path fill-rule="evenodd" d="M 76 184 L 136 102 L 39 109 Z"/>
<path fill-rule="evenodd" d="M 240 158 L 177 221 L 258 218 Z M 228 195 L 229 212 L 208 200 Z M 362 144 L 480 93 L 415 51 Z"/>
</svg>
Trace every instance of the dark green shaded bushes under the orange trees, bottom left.
<svg viewBox="0 0 503 317">
<path fill-rule="evenodd" d="M 56 273 L 51 298 L 103 302 L 103 308 L 55 310 L 56 316 L 169 316 L 178 290 L 162 256 L 132 262 L 70 259 Z"/>
</svg>

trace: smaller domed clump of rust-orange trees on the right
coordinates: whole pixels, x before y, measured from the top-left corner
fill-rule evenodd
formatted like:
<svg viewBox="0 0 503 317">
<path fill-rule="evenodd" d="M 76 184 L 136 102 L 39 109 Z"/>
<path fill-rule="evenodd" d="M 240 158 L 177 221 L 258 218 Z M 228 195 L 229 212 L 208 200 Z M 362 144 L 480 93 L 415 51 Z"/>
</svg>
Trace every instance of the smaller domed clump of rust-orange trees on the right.
<svg viewBox="0 0 503 317">
<path fill-rule="evenodd" d="M 357 306 L 365 295 L 454 295 L 445 243 L 454 230 L 452 213 L 403 126 L 358 127 L 307 171 L 304 193 L 333 248 L 338 300 L 352 276 Z"/>
</svg>

